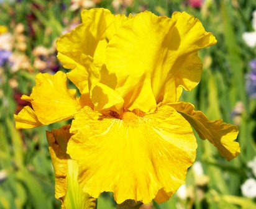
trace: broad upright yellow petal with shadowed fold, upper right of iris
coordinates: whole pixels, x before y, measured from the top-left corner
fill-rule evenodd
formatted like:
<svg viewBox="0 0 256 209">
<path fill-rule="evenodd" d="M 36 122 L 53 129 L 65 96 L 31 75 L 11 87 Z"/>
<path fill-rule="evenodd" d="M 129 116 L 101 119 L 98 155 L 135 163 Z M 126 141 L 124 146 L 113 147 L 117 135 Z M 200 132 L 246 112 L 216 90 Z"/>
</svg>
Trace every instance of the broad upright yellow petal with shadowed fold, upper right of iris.
<svg viewBox="0 0 256 209">
<path fill-rule="evenodd" d="M 124 22 L 109 41 L 106 66 L 116 74 L 125 108 L 149 112 L 159 102 L 176 102 L 180 86 L 191 90 L 198 84 L 197 51 L 214 43 L 201 22 L 185 12 L 170 19 L 146 11 Z"/>
</svg>

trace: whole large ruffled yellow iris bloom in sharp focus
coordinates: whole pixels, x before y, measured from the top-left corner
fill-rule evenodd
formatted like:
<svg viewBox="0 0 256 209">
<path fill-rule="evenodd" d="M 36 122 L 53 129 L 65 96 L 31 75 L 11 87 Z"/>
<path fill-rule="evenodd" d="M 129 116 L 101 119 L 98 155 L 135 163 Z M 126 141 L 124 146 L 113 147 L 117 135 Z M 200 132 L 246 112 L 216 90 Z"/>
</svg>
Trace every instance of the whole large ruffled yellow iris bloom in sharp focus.
<svg viewBox="0 0 256 209">
<path fill-rule="evenodd" d="M 38 74 L 32 94 L 22 96 L 32 108 L 15 118 L 17 128 L 74 118 L 66 153 L 78 162 L 83 192 L 113 192 L 117 203 L 168 200 L 196 157 L 191 126 L 227 160 L 240 153 L 235 125 L 179 102 L 201 79 L 198 50 L 216 43 L 198 19 L 186 12 L 114 16 L 107 9 L 85 10 L 81 18 L 57 40 L 58 59 L 71 71 Z"/>
</svg>

